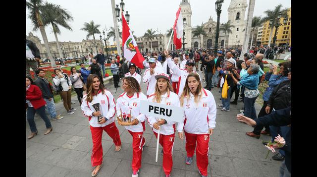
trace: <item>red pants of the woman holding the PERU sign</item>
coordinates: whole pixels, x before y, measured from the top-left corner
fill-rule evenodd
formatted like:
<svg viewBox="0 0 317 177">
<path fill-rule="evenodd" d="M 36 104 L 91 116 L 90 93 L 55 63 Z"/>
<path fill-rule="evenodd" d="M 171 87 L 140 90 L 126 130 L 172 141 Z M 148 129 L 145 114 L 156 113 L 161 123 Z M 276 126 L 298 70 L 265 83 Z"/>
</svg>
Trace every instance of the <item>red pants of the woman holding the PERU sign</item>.
<svg viewBox="0 0 317 177">
<path fill-rule="evenodd" d="M 158 138 L 158 133 L 154 132 L 154 134 Z M 172 153 L 174 138 L 175 133 L 171 135 L 159 134 L 159 144 L 163 147 L 163 170 L 165 175 L 170 175 L 173 167 Z"/>
</svg>

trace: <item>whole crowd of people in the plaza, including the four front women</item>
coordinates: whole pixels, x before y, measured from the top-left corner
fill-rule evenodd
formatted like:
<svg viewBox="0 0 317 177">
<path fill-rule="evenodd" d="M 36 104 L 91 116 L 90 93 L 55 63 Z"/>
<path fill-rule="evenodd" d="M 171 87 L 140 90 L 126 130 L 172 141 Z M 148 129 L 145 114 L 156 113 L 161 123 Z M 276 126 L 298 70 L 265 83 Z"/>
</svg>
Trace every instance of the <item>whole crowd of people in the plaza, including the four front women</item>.
<svg viewBox="0 0 317 177">
<path fill-rule="evenodd" d="M 50 119 L 45 115 L 45 105 L 51 120 L 63 118 L 56 114 L 53 90 L 62 97 L 67 114 L 74 114 L 76 108 L 71 106 L 73 85 L 81 110 L 90 124 L 93 140 L 91 160 L 94 167 L 91 174 L 93 177 L 98 175 L 103 166 L 101 141 L 103 130 L 112 138 L 115 151 L 121 149 L 115 120 L 132 136 L 132 177 L 139 176 L 142 151 L 146 143 L 143 136 L 146 122 L 152 127 L 157 138 L 158 130 L 160 130 L 159 144 L 162 147 L 162 167 L 165 177 L 170 177 L 173 166 L 172 151 L 176 130 L 181 140 L 186 139 L 187 155 L 184 157 L 184 162 L 187 165 L 192 163 L 196 149 L 198 172 L 202 177 L 207 177 L 209 139 L 216 125 L 217 105 L 214 94 L 221 95 L 221 104 L 218 104 L 218 107 L 223 112 L 230 111 L 230 104 L 236 105 L 238 101 L 243 102 L 244 106 L 240 110 L 241 114 L 237 115 L 237 120 L 254 126 L 254 131 L 246 132 L 248 136 L 259 138 L 261 134 L 271 135 L 273 141 L 275 136 L 280 134 L 290 144 L 290 113 L 288 111 L 290 111 L 291 103 L 291 62 L 283 62 L 279 66 L 270 65 L 269 71 L 264 73 L 262 60 L 265 58 L 265 49 L 263 46 L 260 49 L 252 49 L 252 52 L 243 54 L 241 57 L 240 53 L 241 50 L 238 48 L 217 51 L 207 49 L 143 53 L 145 59 L 143 76 L 141 76 L 141 69 L 135 63 L 112 59 L 110 68 L 115 88 L 120 87 L 119 81 L 122 79 L 123 93 L 118 98 L 114 98 L 105 89 L 103 83 L 106 58 L 102 49 L 95 57 L 92 54 L 89 55 L 88 61 L 91 64 L 88 68 L 82 62 L 80 70 L 76 70 L 75 67 L 70 68 L 70 75 L 55 68 L 54 89 L 45 78 L 45 70 L 37 69 L 34 82 L 31 77 L 26 76 L 27 120 L 31 129 L 28 138 L 31 139 L 37 135 L 34 122 L 35 112 L 46 122 L 45 134 L 53 130 Z M 122 71 L 124 67 L 126 73 Z M 120 75 L 122 77 L 119 77 Z M 264 80 L 268 81 L 268 87 L 263 95 L 263 107 L 257 116 L 255 102 L 260 95 L 258 87 L 263 75 Z M 144 92 L 141 91 L 141 82 L 147 84 Z M 219 92 L 215 92 L 215 87 L 219 88 Z M 83 95 L 84 91 L 86 91 L 85 95 Z M 230 102 L 233 95 L 235 98 Z M 183 122 L 142 114 L 141 100 L 182 108 Z M 282 119 L 270 120 L 271 117 L 282 117 Z M 280 149 L 279 153 L 272 157 L 274 160 L 284 161 L 280 170 L 283 177 L 291 174 L 290 151 L 290 147 Z"/>
</svg>

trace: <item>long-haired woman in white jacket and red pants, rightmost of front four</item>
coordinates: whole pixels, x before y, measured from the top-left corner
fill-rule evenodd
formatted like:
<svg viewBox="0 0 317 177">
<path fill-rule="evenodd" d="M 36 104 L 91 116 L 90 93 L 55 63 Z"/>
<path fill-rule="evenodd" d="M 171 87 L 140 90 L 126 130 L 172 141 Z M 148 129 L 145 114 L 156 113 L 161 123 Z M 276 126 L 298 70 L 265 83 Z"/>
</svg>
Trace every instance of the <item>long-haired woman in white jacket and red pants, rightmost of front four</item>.
<svg viewBox="0 0 317 177">
<path fill-rule="evenodd" d="M 197 73 L 190 73 L 180 97 L 184 109 L 186 137 L 186 164 L 190 165 L 196 148 L 199 174 L 207 177 L 209 138 L 215 127 L 216 104 L 210 91 L 202 87 Z M 180 132 L 180 131 L 179 131 Z M 179 137 L 182 139 L 182 133 Z M 196 146 L 197 143 L 197 146 Z"/>
</svg>

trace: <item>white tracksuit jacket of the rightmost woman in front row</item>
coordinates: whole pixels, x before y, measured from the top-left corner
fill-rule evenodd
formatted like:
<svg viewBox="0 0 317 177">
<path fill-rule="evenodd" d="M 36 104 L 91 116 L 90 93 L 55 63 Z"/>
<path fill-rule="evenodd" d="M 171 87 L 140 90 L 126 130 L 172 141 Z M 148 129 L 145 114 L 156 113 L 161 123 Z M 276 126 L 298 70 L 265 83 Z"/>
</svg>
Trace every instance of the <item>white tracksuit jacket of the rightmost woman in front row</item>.
<svg viewBox="0 0 317 177">
<path fill-rule="evenodd" d="M 216 126 L 217 109 L 214 98 L 211 92 L 206 89 L 202 89 L 202 97 L 197 104 L 194 95 L 190 93 L 190 96 L 189 100 L 184 98 L 184 130 L 187 133 L 206 134 L 209 128 Z"/>
</svg>

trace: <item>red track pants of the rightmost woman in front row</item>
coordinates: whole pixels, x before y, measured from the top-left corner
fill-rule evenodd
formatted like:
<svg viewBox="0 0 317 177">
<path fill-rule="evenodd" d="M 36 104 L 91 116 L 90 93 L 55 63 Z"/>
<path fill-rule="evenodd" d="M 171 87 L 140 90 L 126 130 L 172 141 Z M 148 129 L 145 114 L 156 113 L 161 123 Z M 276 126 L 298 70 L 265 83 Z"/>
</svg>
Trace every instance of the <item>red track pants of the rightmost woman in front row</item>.
<svg viewBox="0 0 317 177">
<path fill-rule="evenodd" d="M 205 136 L 207 139 L 205 140 Z M 185 131 L 187 157 L 193 157 L 196 147 L 197 167 L 203 176 L 207 176 L 208 171 L 208 152 L 209 134 L 192 134 Z"/>
</svg>

